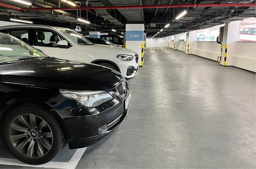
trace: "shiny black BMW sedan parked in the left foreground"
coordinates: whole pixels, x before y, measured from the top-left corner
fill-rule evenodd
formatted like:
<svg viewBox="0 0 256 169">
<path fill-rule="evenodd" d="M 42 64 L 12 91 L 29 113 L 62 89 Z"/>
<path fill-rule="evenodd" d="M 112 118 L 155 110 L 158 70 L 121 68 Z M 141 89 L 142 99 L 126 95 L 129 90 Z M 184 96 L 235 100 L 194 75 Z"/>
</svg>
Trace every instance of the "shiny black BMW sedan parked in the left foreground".
<svg viewBox="0 0 256 169">
<path fill-rule="evenodd" d="M 117 71 L 51 58 L 0 33 L 0 129 L 12 154 L 28 164 L 92 145 L 117 127 L 131 93 Z"/>
</svg>

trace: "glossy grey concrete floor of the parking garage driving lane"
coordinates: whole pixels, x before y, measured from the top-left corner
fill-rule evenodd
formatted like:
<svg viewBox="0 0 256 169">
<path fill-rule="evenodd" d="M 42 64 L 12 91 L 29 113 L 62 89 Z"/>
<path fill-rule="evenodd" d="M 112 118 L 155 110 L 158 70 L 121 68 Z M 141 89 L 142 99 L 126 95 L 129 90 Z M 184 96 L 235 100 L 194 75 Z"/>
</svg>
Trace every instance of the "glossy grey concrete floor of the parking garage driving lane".
<svg viewBox="0 0 256 169">
<path fill-rule="evenodd" d="M 173 50 L 144 63 L 127 120 L 76 168 L 255 168 L 254 73 Z"/>
</svg>

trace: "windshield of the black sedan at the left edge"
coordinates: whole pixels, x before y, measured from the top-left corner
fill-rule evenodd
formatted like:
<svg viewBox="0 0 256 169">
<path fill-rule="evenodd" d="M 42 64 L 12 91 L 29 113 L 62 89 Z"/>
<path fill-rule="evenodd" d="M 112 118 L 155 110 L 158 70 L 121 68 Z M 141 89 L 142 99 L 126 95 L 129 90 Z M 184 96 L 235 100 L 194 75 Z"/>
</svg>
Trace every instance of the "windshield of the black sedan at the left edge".
<svg viewBox="0 0 256 169">
<path fill-rule="evenodd" d="M 16 37 L 0 33 L 0 63 L 38 57 L 48 56 Z"/>
</svg>

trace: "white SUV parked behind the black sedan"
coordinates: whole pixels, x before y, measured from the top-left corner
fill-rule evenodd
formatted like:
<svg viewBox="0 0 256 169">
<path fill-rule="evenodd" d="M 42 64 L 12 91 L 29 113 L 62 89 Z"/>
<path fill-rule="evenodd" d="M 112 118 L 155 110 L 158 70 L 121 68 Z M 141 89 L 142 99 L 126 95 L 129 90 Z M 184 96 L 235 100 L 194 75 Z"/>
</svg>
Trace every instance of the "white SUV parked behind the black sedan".
<svg viewBox="0 0 256 169">
<path fill-rule="evenodd" d="M 0 31 L 20 38 L 51 57 L 95 63 L 119 71 L 126 79 L 138 73 L 136 52 L 123 47 L 93 44 L 68 28 L 12 25 L 0 27 Z"/>
</svg>

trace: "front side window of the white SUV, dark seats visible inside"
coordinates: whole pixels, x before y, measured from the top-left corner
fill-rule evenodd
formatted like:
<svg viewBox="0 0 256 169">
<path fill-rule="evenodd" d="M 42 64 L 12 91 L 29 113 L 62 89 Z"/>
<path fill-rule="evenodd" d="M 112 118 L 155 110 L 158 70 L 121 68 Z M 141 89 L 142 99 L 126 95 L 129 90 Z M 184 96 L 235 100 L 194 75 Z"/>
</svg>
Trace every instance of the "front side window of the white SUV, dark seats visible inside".
<svg viewBox="0 0 256 169">
<path fill-rule="evenodd" d="M 63 38 L 54 31 L 46 29 L 36 29 L 37 46 L 59 47 L 57 43 Z"/>
</svg>

